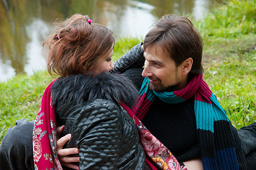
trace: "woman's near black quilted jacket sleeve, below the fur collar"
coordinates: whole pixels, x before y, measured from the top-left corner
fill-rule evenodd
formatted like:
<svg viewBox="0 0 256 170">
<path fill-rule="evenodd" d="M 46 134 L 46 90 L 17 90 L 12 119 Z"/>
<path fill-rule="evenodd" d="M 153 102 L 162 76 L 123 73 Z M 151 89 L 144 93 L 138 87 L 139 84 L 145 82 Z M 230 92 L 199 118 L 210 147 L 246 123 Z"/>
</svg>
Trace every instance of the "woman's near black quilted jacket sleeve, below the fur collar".
<svg viewBox="0 0 256 170">
<path fill-rule="evenodd" d="M 80 169 L 116 169 L 123 131 L 123 116 L 117 105 L 93 103 L 82 109 L 74 121 Z"/>
</svg>

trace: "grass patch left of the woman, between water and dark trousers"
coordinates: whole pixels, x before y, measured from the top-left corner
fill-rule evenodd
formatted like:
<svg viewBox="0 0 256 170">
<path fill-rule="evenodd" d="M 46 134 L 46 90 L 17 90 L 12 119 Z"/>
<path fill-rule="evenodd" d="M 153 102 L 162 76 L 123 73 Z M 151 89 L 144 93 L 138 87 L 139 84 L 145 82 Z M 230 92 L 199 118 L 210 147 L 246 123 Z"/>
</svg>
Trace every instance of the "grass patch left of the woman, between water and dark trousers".
<svg viewBox="0 0 256 170">
<path fill-rule="evenodd" d="M 34 120 L 45 87 L 53 80 L 46 71 L 32 76 L 18 75 L 0 83 L 0 141 L 15 120 Z"/>
</svg>

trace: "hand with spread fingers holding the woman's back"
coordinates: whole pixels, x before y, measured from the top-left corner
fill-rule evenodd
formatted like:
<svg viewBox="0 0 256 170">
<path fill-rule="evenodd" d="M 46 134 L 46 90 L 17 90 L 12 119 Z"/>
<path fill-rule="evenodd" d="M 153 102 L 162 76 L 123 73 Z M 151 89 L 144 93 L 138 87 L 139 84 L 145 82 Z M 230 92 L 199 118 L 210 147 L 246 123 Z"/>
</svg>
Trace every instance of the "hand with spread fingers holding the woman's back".
<svg viewBox="0 0 256 170">
<path fill-rule="evenodd" d="M 75 164 L 72 164 L 72 162 L 79 162 L 79 156 L 78 157 L 70 157 L 67 155 L 72 154 L 78 154 L 78 148 L 62 148 L 66 142 L 68 142 L 71 138 L 71 134 L 67 134 L 64 137 L 60 138 L 60 134 L 64 130 L 65 126 L 61 126 L 57 128 L 57 134 L 58 134 L 58 140 L 57 140 L 57 154 L 58 159 L 60 160 L 60 163 L 62 166 L 72 168 L 72 169 L 79 169 L 79 167 Z M 60 138 L 60 139 L 59 139 Z"/>
</svg>

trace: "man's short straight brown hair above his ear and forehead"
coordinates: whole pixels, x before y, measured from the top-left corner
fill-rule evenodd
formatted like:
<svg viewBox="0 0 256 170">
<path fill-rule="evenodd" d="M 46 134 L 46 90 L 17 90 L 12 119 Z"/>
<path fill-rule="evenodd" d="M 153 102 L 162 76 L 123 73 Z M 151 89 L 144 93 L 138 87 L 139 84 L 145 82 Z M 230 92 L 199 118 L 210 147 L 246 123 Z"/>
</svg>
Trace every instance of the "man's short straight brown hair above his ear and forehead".
<svg viewBox="0 0 256 170">
<path fill-rule="evenodd" d="M 165 50 L 176 66 L 191 57 L 193 64 L 190 74 L 203 73 L 203 40 L 189 19 L 173 14 L 163 16 L 145 36 L 144 50 L 152 45 Z"/>
</svg>

